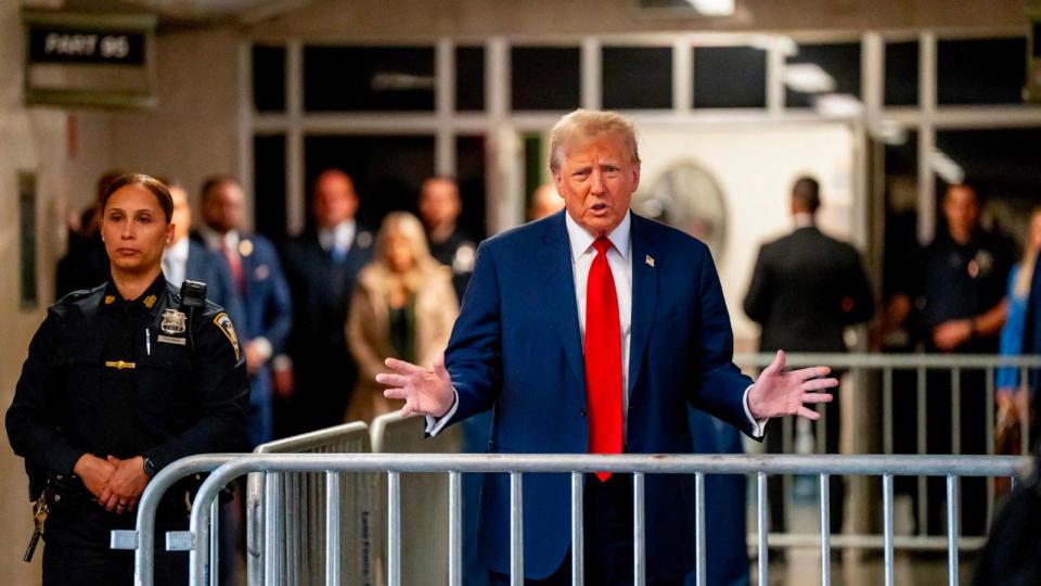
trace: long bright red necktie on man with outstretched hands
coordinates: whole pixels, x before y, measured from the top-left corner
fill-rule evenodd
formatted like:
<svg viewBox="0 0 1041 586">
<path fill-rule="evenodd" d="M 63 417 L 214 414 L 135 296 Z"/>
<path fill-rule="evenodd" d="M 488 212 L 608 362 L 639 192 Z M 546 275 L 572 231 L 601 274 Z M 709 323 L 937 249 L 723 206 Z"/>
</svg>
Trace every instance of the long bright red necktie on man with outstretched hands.
<svg viewBox="0 0 1041 586">
<path fill-rule="evenodd" d="M 621 327 L 618 294 L 607 264 L 611 241 L 593 242 L 596 257 L 586 284 L 586 404 L 590 454 L 621 454 Z M 597 472 L 601 481 L 611 472 Z"/>
</svg>

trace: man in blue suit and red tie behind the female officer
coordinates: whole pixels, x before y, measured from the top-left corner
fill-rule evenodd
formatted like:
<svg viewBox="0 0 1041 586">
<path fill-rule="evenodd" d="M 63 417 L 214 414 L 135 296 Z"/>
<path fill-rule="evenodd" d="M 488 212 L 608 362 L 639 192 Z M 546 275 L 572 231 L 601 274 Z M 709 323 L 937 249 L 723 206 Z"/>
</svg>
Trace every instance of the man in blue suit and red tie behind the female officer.
<svg viewBox="0 0 1041 586">
<path fill-rule="evenodd" d="M 235 324 L 249 371 L 249 445 L 257 446 L 274 438 L 271 366 L 293 326 L 290 286 L 271 241 L 242 230 L 245 194 L 237 181 L 220 175 L 206 179 L 200 211 L 197 237 L 224 258 L 242 301 L 243 319 Z"/>
</svg>

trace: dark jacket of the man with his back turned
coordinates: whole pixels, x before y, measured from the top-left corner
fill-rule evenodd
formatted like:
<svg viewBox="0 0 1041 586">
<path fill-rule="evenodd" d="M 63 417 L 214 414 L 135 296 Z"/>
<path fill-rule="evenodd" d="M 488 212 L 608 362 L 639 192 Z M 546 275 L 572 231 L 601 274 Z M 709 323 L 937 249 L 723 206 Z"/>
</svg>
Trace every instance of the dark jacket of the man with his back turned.
<svg viewBox="0 0 1041 586">
<path fill-rule="evenodd" d="M 806 227 L 762 246 L 744 307 L 763 352 L 846 352 L 843 330 L 871 319 L 874 301 L 857 250 Z"/>
</svg>

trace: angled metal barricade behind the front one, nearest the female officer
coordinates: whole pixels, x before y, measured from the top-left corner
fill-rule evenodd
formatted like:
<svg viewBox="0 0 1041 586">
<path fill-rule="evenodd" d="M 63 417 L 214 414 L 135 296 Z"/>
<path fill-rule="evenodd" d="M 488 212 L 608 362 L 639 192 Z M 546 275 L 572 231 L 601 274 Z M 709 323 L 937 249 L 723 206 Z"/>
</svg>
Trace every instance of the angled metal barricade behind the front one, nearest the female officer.
<svg viewBox="0 0 1041 586">
<path fill-rule="evenodd" d="M 254 454 L 354 454 L 370 451 L 369 428 L 358 421 L 287 437 Z M 246 569 L 249 584 L 310 585 L 324 576 L 349 584 L 377 583 L 373 575 L 372 474 L 249 474 L 246 484 Z M 330 521 L 333 520 L 333 521 Z M 326 526 L 329 523 L 335 527 Z M 325 547 L 331 528 L 358 547 Z M 269 547 L 278 544 L 278 547 Z"/>
</svg>

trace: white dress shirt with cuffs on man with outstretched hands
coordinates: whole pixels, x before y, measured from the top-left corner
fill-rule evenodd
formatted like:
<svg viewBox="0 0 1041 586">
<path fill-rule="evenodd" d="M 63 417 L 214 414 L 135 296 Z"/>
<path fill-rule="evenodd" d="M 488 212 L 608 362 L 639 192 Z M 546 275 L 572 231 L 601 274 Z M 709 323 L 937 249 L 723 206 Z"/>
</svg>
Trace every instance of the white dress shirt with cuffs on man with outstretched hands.
<svg viewBox="0 0 1041 586">
<path fill-rule="evenodd" d="M 612 247 L 607 250 L 607 265 L 611 267 L 611 275 L 615 280 L 615 293 L 618 296 L 618 319 L 621 330 L 621 387 L 626 390 L 621 394 L 621 425 L 622 436 L 628 437 L 629 420 L 629 349 L 632 340 L 632 238 L 630 237 L 630 227 L 632 226 L 632 213 L 626 214 L 619 224 L 609 234 Z M 596 257 L 596 249 L 593 242 L 596 240 L 584 228 L 578 225 L 571 216 L 565 212 L 564 225 L 567 227 L 567 240 L 570 244 L 571 253 L 571 277 L 575 279 L 575 302 L 578 306 L 578 324 L 581 330 L 582 348 L 584 351 L 586 341 L 586 289 L 589 281 L 589 269 Z M 767 420 L 757 421 L 751 417 L 748 410 L 748 392 L 751 385 L 745 388 L 745 395 L 742 404 L 745 408 L 745 416 L 753 425 L 753 435 L 762 437 Z M 426 418 L 426 432 L 430 435 L 437 435 L 445 424 L 455 415 L 455 408 L 459 405 L 459 394 L 452 402 L 452 408 L 440 418 Z"/>
</svg>

